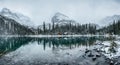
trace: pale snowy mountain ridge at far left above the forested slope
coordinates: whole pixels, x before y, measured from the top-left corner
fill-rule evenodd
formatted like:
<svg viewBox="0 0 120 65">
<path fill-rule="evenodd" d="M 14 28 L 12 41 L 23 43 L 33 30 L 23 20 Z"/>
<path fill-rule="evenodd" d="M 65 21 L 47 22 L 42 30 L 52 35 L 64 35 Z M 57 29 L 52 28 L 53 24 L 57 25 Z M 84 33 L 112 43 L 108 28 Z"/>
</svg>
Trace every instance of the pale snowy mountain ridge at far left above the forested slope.
<svg viewBox="0 0 120 65">
<path fill-rule="evenodd" d="M 24 16 L 23 14 L 20 14 L 20 13 L 14 13 L 7 8 L 3 8 L 0 11 L 0 15 L 8 17 L 10 19 L 14 19 L 21 25 L 28 26 L 28 27 L 34 27 L 34 23 L 30 20 L 29 17 Z"/>
</svg>

